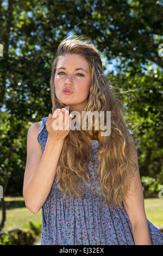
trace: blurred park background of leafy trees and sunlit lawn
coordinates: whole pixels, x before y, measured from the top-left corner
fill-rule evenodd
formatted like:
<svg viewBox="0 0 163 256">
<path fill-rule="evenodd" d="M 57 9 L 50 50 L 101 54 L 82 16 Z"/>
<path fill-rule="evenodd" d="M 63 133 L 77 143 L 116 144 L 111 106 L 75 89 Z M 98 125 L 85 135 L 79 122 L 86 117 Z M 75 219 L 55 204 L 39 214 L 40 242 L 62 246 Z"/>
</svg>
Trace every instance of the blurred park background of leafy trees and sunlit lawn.
<svg viewBox="0 0 163 256">
<path fill-rule="evenodd" d="M 0 1 L 0 244 L 40 241 L 41 210 L 22 196 L 27 131 L 52 112 L 52 62 L 68 35 L 97 46 L 134 132 L 147 218 L 163 225 L 162 17 L 161 0 Z"/>
</svg>

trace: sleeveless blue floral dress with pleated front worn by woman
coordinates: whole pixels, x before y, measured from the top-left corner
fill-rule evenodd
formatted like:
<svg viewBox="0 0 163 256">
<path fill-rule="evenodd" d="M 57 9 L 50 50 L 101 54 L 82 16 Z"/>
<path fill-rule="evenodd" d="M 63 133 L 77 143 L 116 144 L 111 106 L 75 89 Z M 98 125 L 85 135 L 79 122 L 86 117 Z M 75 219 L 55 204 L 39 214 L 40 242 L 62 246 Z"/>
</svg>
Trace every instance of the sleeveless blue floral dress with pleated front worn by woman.
<svg viewBox="0 0 163 256">
<path fill-rule="evenodd" d="M 42 118 L 38 141 L 42 153 L 48 137 L 46 121 Z M 131 133 L 129 131 L 131 135 Z M 42 206 L 41 245 L 134 245 L 131 222 L 124 207 L 110 207 L 98 190 L 98 148 L 99 142 L 90 145 L 93 162 L 89 161 L 91 186 L 85 197 L 74 197 L 73 201 L 63 199 L 55 175 L 50 193 Z M 93 167 L 93 168 L 92 168 Z M 148 222 L 152 245 L 163 245 L 163 234 Z"/>
</svg>

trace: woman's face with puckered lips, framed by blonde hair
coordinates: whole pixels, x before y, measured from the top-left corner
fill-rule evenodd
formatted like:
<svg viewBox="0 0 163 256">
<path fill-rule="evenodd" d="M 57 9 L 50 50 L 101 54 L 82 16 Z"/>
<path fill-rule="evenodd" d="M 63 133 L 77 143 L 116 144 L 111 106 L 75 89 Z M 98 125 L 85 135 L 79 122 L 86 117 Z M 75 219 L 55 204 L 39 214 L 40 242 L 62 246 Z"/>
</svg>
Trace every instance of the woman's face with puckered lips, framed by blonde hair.
<svg viewBox="0 0 163 256">
<path fill-rule="evenodd" d="M 78 70 L 77 70 L 78 69 Z M 87 60 L 79 54 L 65 54 L 57 64 L 54 77 L 55 95 L 57 99 L 69 107 L 71 111 L 82 111 L 90 92 L 91 72 Z M 65 95 L 64 87 L 72 90 Z"/>
</svg>

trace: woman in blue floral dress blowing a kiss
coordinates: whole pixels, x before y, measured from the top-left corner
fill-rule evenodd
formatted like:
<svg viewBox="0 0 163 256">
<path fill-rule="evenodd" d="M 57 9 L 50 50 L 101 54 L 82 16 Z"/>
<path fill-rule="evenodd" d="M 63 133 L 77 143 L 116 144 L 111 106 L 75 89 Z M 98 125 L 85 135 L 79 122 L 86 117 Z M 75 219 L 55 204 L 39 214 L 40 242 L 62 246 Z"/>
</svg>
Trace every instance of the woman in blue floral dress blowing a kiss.
<svg viewBox="0 0 163 256">
<path fill-rule="evenodd" d="M 82 36 L 63 40 L 50 84 L 52 114 L 29 127 L 23 185 L 27 208 L 42 208 L 41 245 L 163 245 L 146 218 L 133 133 L 97 48 Z M 80 129 L 66 109 L 79 113 Z M 110 135 L 95 121 L 82 130 L 83 111 L 111 111 Z"/>
</svg>

